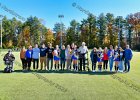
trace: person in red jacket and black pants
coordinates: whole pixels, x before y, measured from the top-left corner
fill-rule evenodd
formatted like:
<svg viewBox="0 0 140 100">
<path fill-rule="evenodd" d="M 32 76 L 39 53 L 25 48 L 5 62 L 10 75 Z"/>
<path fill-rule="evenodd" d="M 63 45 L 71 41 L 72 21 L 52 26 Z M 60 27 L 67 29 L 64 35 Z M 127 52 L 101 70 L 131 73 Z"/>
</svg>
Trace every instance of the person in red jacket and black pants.
<svg viewBox="0 0 140 100">
<path fill-rule="evenodd" d="M 103 68 L 105 71 L 107 70 L 107 67 L 108 67 L 108 58 L 109 58 L 108 49 L 107 49 L 107 47 L 105 47 L 104 52 L 103 52 L 103 61 L 104 61 Z"/>
</svg>

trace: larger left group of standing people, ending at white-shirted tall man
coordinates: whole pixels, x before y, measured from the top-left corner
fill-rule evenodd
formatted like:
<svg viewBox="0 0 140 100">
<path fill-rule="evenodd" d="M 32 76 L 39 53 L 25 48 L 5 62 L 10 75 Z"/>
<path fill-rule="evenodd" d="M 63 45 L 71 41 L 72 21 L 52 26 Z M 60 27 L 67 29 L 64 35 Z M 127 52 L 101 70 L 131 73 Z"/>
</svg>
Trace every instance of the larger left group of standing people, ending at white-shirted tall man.
<svg viewBox="0 0 140 100">
<path fill-rule="evenodd" d="M 38 47 L 38 44 L 35 44 L 34 48 L 29 46 L 27 50 L 23 47 L 20 51 L 20 59 L 23 70 L 31 70 L 31 62 L 33 62 L 33 69 L 38 70 L 40 59 L 40 70 L 43 70 L 43 68 L 45 70 L 53 70 L 53 67 L 55 70 L 64 70 L 65 66 L 67 70 L 71 70 L 73 64 L 74 71 L 82 71 L 82 65 L 85 71 L 86 53 L 88 53 L 88 49 L 85 46 L 85 42 L 79 48 L 72 43 L 71 46 L 67 45 L 67 48 L 62 45 L 61 49 L 58 45 L 53 48 L 51 43 L 47 47 L 45 44 L 42 44 L 41 48 Z M 79 68 L 78 60 L 80 60 Z"/>
</svg>

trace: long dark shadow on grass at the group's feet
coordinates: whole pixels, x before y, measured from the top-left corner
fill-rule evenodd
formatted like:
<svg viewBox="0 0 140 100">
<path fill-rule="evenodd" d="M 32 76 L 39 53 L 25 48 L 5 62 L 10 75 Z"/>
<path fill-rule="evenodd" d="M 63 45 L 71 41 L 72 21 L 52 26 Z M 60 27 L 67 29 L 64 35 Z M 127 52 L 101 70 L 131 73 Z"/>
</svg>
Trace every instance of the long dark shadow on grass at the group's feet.
<svg viewBox="0 0 140 100">
<path fill-rule="evenodd" d="M 0 71 L 0 73 L 3 73 L 3 71 Z M 115 72 L 109 72 L 109 71 L 103 71 L 103 72 L 91 72 L 91 71 L 82 71 L 82 72 L 74 72 L 74 71 L 68 71 L 68 70 L 60 70 L 60 71 L 47 71 L 47 70 L 38 70 L 38 71 L 22 71 L 22 70 L 15 70 L 13 73 L 50 73 L 50 74 L 87 74 L 87 75 L 112 75 L 116 74 Z"/>
</svg>

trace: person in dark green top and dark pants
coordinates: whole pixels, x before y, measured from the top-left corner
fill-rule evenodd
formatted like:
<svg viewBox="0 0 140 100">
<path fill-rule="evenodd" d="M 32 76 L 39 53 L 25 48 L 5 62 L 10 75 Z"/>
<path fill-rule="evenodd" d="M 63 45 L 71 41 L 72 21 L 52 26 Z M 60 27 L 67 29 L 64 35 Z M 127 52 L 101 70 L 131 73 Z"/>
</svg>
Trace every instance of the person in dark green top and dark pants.
<svg viewBox="0 0 140 100">
<path fill-rule="evenodd" d="M 60 64 L 61 64 L 61 70 L 65 69 L 65 61 L 66 61 L 66 55 L 65 55 L 65 46 L 62 46 L 62 49 L 60 51 Z"/>
</svg>

